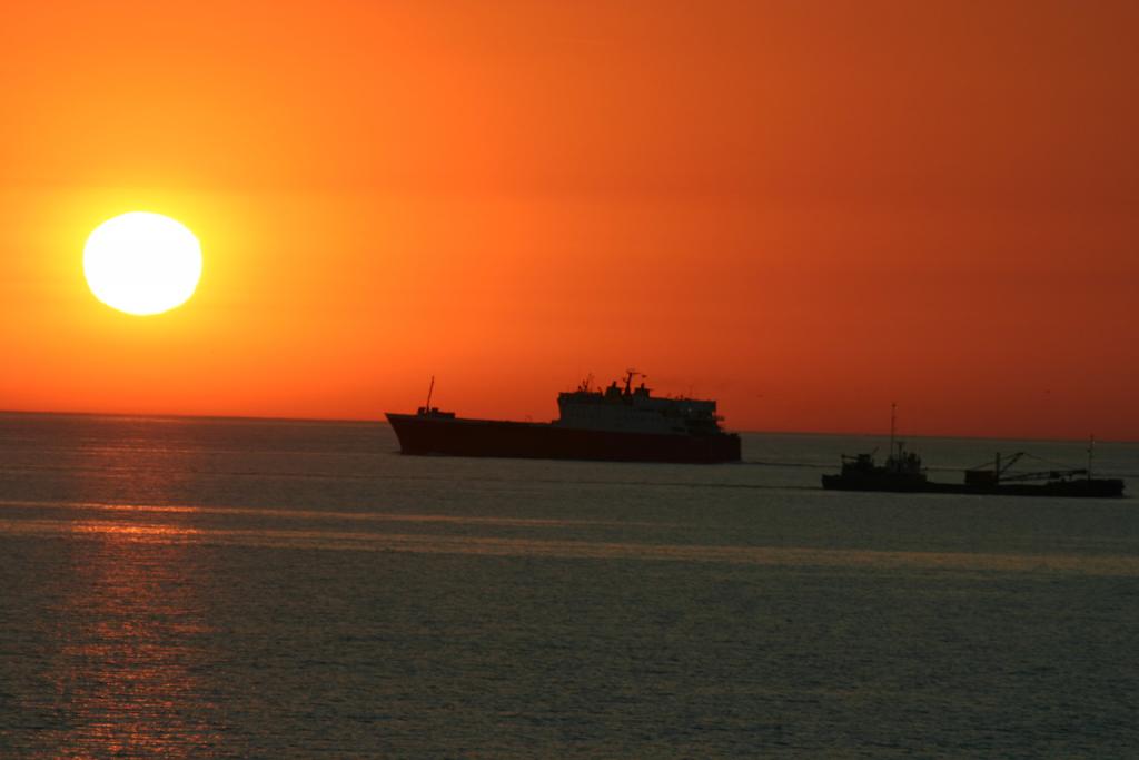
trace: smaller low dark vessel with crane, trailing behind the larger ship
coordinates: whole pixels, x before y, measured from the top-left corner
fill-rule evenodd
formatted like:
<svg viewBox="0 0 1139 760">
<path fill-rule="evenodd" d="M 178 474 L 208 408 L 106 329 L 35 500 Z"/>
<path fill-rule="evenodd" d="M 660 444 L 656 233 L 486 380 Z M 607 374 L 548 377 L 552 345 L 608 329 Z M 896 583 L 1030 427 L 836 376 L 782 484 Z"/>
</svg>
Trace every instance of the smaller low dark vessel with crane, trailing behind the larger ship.
<svg viewBox="0 0 1139 760">
<path fill-rule="evenodd" d="M 997 455 L 992 466 L 982 465 L 965 471 L 961 483 L 931 481 L 921 457 L 906 450 L 894 438 L 894 415 L 890 419 L 890 455 L 884 465 L 875 461 L 874 452 L 843 455 L 837 475 L 823 475 L 822 488 L 842 491 L 894 491 L 906 493 L 976 493 L 986 496 L 1058 496 L 1082 498 L 1118 498 L 1124 483 L 1118 479 L 1091 476 L 1095 440 L 1088 447 L 1088 466 L 1050 468 L 1031 473 L 1009 473 L 1009 468 L 1029 457 L 1018 451 L 1002 459 Z"/>
</svg>

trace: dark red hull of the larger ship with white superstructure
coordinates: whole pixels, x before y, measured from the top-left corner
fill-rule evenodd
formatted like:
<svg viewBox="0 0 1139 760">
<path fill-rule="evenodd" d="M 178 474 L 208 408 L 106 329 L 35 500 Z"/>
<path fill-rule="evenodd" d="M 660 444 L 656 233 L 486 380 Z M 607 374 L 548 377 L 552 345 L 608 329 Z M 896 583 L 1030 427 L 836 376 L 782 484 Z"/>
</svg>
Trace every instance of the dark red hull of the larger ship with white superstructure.
<svg viewBox="0 0 1139 760">
<path fill-rule="evenodd" d="M 739 460 L 739 436 L 662 435 L 388 412 L 387 420 L 409 455 L 673 461 L 712 464 Z"/>
</svg>

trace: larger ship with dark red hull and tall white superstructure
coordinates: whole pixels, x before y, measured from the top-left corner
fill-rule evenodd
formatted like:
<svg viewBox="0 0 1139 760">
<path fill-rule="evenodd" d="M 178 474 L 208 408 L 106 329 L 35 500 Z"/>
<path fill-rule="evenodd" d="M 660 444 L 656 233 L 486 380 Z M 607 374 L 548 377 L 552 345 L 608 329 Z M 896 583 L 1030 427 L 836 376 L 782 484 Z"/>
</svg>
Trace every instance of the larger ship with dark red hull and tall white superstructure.
<svg viewBox="0 0 1139 760">
<path fill-rule="evenodd" d="M 715 401 L 654 398 L 642 382 L 558 394 L 550 423 L 468 419 L 427 404 L 413 415 L 387 412 L 400 449 L 411 455 L 718 463 L 739 460 L 739 435 L 720 427 Z M 434 381 L 433 381 L 434 387 Z"/>
</svg>

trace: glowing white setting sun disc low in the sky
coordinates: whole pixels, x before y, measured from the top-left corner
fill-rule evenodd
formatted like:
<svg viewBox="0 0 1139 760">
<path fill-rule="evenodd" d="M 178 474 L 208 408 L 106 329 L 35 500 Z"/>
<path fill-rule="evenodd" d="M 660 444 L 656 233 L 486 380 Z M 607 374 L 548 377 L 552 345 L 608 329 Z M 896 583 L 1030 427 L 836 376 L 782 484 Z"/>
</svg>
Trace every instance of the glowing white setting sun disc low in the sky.
<svg viewBox="0 0 1139 760">
<path fill-rule="evenodd" d="M 83 275 L 99 301 L 129 314 L 186 303 L 202 277 L 202 246 L 170 216 L 132 211 L 103 222 L 83 246 Z"/>
</svg>

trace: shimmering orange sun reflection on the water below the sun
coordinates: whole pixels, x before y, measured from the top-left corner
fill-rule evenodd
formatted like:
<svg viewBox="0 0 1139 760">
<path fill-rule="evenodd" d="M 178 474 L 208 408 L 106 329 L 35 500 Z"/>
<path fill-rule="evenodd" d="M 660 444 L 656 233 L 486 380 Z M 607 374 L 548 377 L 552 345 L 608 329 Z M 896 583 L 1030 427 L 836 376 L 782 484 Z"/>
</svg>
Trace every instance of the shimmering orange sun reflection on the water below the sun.
<svg viewBox="0 0 1139 760">
<path fill-rule="evenodd" d="M 223 726 L 203 680 L 216 660 L 203 557 L 186 545 L 199 531 L 85 520 L 68 529 L 83 549 L 56 611 L 63 644 L 50 680 L 66 719 L 50 757 L 215 754 Z"/>
</svg>

